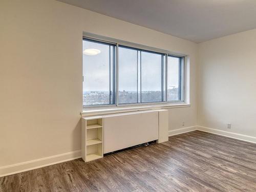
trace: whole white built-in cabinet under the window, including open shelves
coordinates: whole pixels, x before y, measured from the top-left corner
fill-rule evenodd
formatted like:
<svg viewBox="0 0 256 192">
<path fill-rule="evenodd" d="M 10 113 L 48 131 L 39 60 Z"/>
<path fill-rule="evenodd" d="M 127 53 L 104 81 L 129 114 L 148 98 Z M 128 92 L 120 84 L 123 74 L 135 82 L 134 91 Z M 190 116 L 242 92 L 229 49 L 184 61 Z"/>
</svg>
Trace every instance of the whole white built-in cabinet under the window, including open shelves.
<svg viewBox="0 0 256 192">
<path fill-rule="evenodd" d="M 85 162 L 137 144 L 168 141 L 168 111 L 147 110 L 82 117 Z"/>
</svg>

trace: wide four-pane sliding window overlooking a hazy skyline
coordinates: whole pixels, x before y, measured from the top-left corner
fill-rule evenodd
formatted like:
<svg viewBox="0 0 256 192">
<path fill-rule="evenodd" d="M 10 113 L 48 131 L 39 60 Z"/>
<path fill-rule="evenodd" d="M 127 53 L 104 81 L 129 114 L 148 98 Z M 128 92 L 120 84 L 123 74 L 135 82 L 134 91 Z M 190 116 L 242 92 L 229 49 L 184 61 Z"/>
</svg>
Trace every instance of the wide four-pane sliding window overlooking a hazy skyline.
<svg viewBox="0 0 256 192">
<path fill-rule="evenodd" d="M 83 38 L 83 106 L 183 101 L 183 69 L 183 57 Z"/>
</svg>

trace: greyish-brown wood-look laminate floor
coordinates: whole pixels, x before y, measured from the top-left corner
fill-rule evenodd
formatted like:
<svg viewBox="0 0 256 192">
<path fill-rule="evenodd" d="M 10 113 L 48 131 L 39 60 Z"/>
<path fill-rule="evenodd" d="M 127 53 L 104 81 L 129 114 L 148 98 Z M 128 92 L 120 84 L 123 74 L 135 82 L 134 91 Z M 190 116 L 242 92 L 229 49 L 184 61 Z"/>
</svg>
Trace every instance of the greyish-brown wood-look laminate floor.
<svg viewBox="0 0 256 192">
<path fill-rule="evenodd" d="M 256 191 L 256 144 L 194 131 L 2 177 L 0 191 Z"/>
</svg>

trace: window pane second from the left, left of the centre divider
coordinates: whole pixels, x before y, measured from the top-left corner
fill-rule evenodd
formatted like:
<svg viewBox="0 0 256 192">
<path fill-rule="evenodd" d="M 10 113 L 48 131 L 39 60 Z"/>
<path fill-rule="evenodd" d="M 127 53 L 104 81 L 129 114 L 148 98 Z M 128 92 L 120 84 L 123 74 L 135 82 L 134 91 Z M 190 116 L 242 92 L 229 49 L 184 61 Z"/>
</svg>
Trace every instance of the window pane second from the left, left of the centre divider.
<svg viewBox="0 0 256 192">
<path fill-rule="evenodd" d="M 138 51 L 126 47 L 118 48 L 118 100 L 119 103 L 138 102 Z"/>
</svg>

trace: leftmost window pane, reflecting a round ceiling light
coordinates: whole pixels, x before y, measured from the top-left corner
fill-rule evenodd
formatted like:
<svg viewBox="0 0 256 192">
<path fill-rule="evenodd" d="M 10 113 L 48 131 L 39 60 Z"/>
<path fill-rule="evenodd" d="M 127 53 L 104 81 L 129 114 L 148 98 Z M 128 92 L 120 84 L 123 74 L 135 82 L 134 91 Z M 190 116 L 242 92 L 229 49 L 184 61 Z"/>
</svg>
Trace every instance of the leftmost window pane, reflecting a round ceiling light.
<svg viewBox="0 0 256 192">
<path fill-rule="evenodd" d="M 83 105 L 111 104 L 113 99 L 113 45 L 83 40 Z"/>
</svg>

